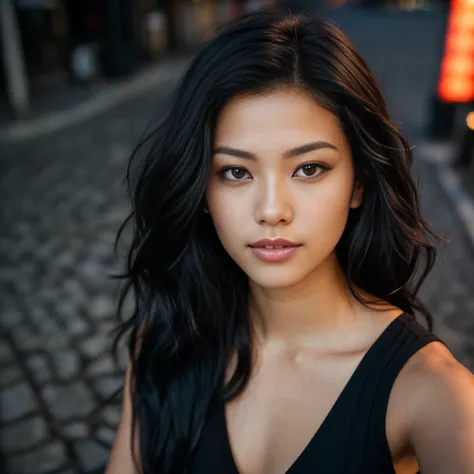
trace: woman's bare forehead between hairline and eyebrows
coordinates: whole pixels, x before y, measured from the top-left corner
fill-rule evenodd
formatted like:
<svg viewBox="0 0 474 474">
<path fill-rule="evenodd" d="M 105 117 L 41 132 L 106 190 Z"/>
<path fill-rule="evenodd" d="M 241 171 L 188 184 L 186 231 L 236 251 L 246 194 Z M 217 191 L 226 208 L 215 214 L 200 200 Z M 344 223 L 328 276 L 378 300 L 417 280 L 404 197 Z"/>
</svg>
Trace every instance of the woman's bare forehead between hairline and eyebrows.
<svg viewBox="0 0 474 474">
<path fill-rule="evenodd" d="M 315 140 L 347 147 L 338 118 L 309 94 L 295 89 L 236 97 L 216 122 L 216 145 L 256 150 L 262 145 L 291 148 Z"/>
</svg>

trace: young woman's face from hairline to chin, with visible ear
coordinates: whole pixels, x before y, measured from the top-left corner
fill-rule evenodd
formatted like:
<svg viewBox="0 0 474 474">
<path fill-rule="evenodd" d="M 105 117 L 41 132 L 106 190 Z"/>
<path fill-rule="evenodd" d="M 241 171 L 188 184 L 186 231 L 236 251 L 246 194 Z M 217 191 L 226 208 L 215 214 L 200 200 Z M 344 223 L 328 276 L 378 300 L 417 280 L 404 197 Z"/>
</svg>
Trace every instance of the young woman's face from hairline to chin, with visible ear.
<svg viewBox="0 0 474 474">
<path fill-rule="evenodd" d="M 222 110 L 208 210 L 255 284 L 282 288 L 310 277 L 333 257 L 360 200 L 338 119 L 304 92 L 239 97 Z"/>
</svg>

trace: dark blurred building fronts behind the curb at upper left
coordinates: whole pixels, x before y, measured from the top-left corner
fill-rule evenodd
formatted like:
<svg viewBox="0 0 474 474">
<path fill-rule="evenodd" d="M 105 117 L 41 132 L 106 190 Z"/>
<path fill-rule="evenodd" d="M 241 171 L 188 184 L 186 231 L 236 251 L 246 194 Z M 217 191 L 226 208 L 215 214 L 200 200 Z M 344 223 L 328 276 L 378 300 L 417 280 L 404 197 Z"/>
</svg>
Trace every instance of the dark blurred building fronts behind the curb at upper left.
<svg viewBox="0 0 474 474">
<path fill-rule="evenodd" d="M 107 80 L 126 76 L 164 55 L 195 49 L 231 18 L 272 0 L 2 0 L 3 3 L 11 5 L 2 10 L 4 16 L 11 16 L 4 20 L 9 27 L 2 29 L 1 85 L 4 97 L 8 97 L 12 93 L 8 82 L 17 83 L 19 75 L 25 76 L 26 88 L 38 82 L 87 83 L 98 77 Z M 18 89 L 18 84 L 15 87 Z"/>
</svg>

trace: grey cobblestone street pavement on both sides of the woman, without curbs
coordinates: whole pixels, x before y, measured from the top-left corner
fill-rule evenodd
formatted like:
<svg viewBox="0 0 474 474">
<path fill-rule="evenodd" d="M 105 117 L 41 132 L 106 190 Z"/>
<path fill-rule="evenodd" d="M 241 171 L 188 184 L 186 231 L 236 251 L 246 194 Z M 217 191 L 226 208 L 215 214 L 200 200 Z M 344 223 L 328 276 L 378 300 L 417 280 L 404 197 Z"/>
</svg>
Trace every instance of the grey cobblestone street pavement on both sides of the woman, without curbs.
<svg viewBox="0 0 474 474">
<path fill-rule="evenodd" d="M 385 86 L 416 140 L 436 71 L 438 13 L 334 14 Z M 402 33 L 403 32 L 403 33 Z M 412 47 L 409 47 L 412 46 Z M 1 450 L 10 474 L 83 474 L 105 462 L 119 419 L 102 402 L 121 384 L 110 354 L 113 240 L 127 212 L 124 167 L 166 88 L 87 123 L 2 147 L 0 159 Z M 474 369 L 474 253 L 440 192 L 417 164 L 423 207 L 452 237 L 423 287 L 438 333 Z"/>
</svg>

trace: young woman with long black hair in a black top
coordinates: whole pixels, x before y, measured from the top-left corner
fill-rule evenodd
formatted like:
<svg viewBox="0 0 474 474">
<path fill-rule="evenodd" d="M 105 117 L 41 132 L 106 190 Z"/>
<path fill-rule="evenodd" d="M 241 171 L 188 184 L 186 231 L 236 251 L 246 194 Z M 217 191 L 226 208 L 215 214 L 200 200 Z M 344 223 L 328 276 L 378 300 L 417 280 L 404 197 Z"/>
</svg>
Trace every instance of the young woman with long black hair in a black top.
<svg viewBox="0 0 474 474">
<path fill-rule="evenodd" d="M 342 33 L 240 19 L 147 143 L 107 473 L 473 474 L 474 378 L 413 316 L 411 151 Z"/>
</svg>

